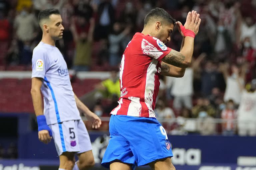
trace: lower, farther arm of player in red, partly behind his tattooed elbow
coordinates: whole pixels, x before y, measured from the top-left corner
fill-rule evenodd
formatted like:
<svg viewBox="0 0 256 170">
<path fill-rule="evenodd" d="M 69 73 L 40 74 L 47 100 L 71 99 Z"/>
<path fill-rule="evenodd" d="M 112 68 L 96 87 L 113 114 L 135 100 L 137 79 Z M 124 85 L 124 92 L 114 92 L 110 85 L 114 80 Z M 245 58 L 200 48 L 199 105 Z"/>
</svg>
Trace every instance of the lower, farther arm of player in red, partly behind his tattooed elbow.
<svg viewBox="0 0 256 170">
<path fill-rule="evenodd" d="M 170 77 L 183 77 L 185 70 L 186 68 L 176 67 L 162 61 L 160 74 L 163 76 L 170 76 Z"/>
</svg>

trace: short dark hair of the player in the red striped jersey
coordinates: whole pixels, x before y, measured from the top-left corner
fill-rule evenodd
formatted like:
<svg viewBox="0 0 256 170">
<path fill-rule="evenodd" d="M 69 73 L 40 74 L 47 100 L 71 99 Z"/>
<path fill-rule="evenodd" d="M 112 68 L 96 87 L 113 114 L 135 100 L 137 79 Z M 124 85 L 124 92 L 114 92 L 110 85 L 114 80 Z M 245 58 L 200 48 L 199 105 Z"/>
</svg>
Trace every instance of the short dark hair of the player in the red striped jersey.
<svg viewBox="0 0 256 170">
<path fill-rule="evenodd" d="M 155 8 L 152 9 L 145 17 L 144 19 L 144 27 L 147 25 L 147 23 L 152 20 L 152 18 L 161 18 L 164 21 L 175 25 L 175 19 L 172 18 L 168 12 L 166 12 L 163 8 Z"/>
</svg>

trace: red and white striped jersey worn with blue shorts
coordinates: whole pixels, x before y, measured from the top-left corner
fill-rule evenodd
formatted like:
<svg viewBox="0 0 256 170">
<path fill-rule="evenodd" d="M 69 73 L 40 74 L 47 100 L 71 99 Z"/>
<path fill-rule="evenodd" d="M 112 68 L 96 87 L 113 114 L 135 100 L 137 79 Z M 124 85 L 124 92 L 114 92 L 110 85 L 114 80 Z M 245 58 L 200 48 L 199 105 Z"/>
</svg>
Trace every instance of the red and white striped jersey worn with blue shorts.
<svg viewBox="0 0 256 170">
<path fill-rule="evenodd" d="M 112 115 L 155 118 L 160 60 L 171 51 L 155 37 L 136 33 L 124 50 L 120 66 L 119 105 Z"/>
</svg>

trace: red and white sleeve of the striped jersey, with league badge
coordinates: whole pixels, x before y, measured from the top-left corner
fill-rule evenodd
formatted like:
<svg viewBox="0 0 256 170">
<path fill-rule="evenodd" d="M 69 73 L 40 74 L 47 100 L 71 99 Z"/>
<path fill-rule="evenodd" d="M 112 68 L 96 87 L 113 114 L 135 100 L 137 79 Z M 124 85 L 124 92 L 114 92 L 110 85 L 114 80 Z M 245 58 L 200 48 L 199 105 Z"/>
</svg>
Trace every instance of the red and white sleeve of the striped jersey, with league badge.
<svg viewBox="0 0 256 170">
<path fill-rule="evenodd" d="M 143 54 L 146 54 L 156 60 L 160 61 L 172 49 L 167 47 L 159 39 L 151 36 L 145 36 L 141 42 L 141 49 Z"/>
</svg>

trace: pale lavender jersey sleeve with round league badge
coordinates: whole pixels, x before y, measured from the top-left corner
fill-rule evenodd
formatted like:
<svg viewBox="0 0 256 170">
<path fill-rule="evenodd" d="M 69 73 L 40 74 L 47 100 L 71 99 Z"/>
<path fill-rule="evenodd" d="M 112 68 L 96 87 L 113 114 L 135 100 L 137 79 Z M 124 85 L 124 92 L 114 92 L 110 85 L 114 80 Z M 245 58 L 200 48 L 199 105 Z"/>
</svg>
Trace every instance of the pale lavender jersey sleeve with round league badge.
<svg viewBox="0 0 256 170">
<path fill-rule="evenodd" d="M 49 68 L 49 61 L 46 51 L 34 50 L 32 55 L 32 76 L 44 78 L 46 70 Z"/>
</svg>

